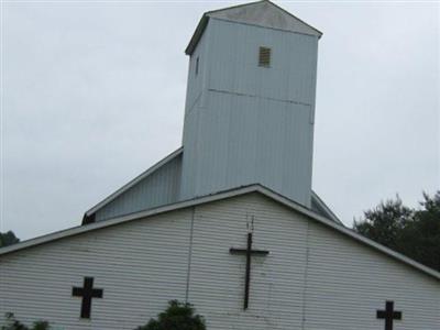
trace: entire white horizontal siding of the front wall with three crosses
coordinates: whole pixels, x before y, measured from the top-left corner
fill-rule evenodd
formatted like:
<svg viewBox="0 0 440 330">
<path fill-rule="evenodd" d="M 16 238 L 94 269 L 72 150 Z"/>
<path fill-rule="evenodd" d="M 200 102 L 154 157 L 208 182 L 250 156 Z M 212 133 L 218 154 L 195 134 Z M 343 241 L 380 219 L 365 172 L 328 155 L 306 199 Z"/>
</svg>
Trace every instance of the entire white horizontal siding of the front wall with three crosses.
<svg viewBox="0 0 440 330">
<path fill-rule="evenodd" d="M 254 218 L 250 308 L 242 311 L 246 223 Z M 190 228 L 194 219 L 193 243 Z M 394 300 L 396 330 L 438 330 L 440 282 L 258 194 L 173 211 L 47 243 L 0 258 L 0 314 L 65 329 L 133 329 L 169 299 L 189 301 L 209 330 L 376 330 Z M 79 320 L 72 286 L 94 276 L 105 289 L 91 321 Z"/>
</svg>

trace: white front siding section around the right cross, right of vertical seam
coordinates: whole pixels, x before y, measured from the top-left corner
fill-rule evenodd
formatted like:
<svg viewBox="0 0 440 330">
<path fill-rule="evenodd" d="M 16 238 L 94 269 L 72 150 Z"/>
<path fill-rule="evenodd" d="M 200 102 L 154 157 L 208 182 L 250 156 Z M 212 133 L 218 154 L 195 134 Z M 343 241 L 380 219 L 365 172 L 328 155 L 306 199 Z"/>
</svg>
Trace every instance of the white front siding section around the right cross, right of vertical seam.
<svg viewBox="0 0 440 330">
<path fill-rule="evenodd" d="M 440 329 L 440 280 L 316 222 L 308 246 L 306 329 L 384 329 L 386 300 L 403 311 L 394 329 Z"/>
</svg>

